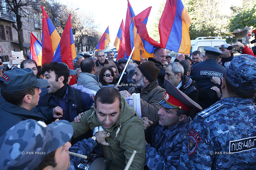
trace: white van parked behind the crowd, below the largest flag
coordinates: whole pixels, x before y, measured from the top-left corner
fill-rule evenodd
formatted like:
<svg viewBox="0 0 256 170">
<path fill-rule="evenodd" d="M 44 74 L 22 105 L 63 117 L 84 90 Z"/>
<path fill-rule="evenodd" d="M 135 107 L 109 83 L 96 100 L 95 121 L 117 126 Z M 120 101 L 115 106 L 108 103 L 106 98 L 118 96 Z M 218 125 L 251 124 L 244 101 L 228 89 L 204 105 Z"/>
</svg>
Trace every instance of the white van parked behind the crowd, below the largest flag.
<svg viewBox="0 0 256 170">
<path fill-rule="evenodd" d="M 211 46 L 211 47 L 214 47 L 215 49 L 219 49 L 219 46 L 222 44 L 226 44 L 226 41 L 223 40 L 221 36 L 197 37 L 195 40 L 191 40 L 190 56 L 192 56 L 192 52 L 196 50 L 199 50 L 203 55 L 205 53 L 204 47 L 206 46 Z"/>
</svg>

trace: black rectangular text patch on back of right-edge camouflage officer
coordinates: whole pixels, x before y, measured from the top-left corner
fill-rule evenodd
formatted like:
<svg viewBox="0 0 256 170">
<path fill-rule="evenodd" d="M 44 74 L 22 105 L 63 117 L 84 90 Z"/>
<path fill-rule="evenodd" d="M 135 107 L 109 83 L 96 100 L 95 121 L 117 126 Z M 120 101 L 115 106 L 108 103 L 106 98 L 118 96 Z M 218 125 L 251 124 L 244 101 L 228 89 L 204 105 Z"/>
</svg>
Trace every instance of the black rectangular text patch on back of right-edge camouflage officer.
<svg viewBox="0 0 256 170">
<path fill-rule="evenodd" d="M 243 152 L 256 149 L 256 137 L 244 138 L 229 142 L 229 152 Z"/>
</svg>

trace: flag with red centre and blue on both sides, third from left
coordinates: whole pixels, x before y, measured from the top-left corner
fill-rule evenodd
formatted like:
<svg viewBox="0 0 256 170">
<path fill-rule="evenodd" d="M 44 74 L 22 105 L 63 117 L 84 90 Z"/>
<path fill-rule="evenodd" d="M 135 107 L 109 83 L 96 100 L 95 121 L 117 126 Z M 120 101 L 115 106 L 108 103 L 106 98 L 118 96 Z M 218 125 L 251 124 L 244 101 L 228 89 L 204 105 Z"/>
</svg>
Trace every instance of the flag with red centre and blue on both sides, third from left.
<svg viewBox="0 0 256 170">
<path fill-rule="evenodd" d="M 60 43 L 56 49 L 56 52 L 53 57 L 53 62 L 64 62 L 68 67 L 74 70 L 73 59 L 76 57 L 75 44 L 73 38 L 73 31 L 71 27 L 71 15 L 69 18 L 61 35 Z M 75 76 L 72 75 L 70 80 L 70 85 L 76 83 Z"/>
</svg>

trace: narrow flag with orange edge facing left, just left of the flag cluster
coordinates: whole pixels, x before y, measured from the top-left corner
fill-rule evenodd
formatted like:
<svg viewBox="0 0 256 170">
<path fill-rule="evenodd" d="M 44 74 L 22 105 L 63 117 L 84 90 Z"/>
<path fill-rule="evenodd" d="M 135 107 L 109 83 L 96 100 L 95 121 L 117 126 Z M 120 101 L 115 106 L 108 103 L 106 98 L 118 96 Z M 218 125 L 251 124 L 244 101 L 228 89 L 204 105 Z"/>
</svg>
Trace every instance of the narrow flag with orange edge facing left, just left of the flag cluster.
<svg viewBox="0 0 256 170">
<path fill-rule="evenodd" d="M 117 32 L 117 36 L 115 38 L 115 48 L 117 49 L 117 58 L 118 61 L 120 58 L 124 58 L 125 55 L 125 40 L 124 40 L 124 21 L 122 19 L 121 25 Z"/>
</svg>

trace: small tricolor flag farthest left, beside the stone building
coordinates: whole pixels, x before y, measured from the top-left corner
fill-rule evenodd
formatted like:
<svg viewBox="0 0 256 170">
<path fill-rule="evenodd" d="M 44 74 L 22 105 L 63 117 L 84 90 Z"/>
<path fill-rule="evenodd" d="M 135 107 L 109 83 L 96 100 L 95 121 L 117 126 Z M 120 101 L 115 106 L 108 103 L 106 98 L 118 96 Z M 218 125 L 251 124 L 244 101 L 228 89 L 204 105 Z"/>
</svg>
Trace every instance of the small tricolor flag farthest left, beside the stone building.
<svg viewBox="0 0 256 170">
<path fill-rule="evenodd" d="M 38 66 L 42 66 L 42 44 L 32 32 L 30 36 L 29 58 L 34 60 Z"/>
</svg>

